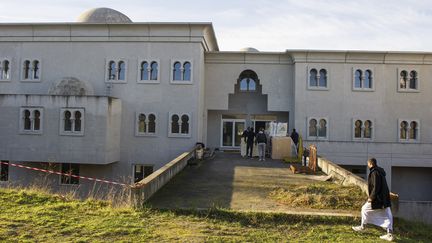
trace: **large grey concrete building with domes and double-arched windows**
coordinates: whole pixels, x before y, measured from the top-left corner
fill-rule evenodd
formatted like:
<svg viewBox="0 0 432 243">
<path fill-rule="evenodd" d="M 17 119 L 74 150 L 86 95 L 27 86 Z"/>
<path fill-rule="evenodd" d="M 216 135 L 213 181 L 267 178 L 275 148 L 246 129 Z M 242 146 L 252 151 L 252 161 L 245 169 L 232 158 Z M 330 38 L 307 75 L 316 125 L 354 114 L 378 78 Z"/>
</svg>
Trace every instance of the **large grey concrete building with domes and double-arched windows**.
<svg viewBox="0 0 432 243">
<path fill-rule="evenodd" d="M 130 184 L 196 142 L 235 149 L 246 126 L 279 121 L 354 172 L 377 157 L 402 200 L 432 201 L 432 53 L 224 52 L 211 23 L 101 8 L 74 23 L 0 24 L 0 64 L 2 161 Z"/>
</svg>

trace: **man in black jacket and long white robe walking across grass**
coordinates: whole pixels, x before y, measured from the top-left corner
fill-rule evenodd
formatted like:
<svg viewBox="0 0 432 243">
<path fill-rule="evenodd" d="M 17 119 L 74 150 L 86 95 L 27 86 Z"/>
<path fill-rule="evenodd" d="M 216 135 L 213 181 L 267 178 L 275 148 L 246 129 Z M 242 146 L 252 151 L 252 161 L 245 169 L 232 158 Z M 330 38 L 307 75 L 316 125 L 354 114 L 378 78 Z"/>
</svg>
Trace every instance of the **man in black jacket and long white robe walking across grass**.
<svg viewBox="0 0 432 243">
<path fill-rule="evenodd" d="M 387 186 L 386 173 L 383 168 L 378 167 L 377 160 L 368 160 L 370 170 L 368 176 L 368 200 L 361 209 L 361 224 L 353 226 L 354 231 L 362 231 L 366 224 L 374 224 L 385 228 L 387 234 L 380 236 L 381 239 L 393 241 L 393 215 L 391 213 L 390 191 Z"/>
</svg>

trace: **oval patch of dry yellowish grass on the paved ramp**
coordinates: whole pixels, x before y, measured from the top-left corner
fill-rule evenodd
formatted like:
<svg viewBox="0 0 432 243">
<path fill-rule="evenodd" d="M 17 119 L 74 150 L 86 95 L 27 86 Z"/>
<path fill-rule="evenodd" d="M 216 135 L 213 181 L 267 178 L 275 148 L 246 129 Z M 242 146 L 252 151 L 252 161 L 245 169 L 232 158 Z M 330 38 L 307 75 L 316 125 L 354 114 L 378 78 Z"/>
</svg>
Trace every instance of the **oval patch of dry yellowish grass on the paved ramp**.
<svg viewBox="0 0 432 243">
<path fill-rule="evenodd" d="M 269 198 L 295 208 L 359 210 L 366 195 L 356 186 L 320 182 L 276 188 Z"/>
</svg>

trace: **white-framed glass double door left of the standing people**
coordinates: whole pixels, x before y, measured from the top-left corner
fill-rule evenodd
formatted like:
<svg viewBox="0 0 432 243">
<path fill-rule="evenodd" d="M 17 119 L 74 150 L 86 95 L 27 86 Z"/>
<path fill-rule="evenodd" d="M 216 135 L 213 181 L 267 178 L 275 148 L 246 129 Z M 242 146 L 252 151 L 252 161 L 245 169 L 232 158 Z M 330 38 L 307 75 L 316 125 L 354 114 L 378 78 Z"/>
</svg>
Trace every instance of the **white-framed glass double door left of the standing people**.
<svg viewBox="0 0 432 243">
<path fill-rule="evenodd" d="M 240 148 L 245 123 L 244 119 L 222 119 L 221 147 Z"/>
</svg>

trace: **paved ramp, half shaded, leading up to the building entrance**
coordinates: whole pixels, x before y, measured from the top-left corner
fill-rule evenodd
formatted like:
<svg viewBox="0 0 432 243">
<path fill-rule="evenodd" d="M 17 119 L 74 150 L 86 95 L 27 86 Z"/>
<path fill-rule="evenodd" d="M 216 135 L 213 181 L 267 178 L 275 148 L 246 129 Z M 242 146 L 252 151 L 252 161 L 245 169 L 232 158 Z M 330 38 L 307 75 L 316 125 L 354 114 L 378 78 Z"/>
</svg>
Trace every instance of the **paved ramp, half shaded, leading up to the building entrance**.
<svg viewBox="0 0 432 243">
<path fill-rule="evenodd" d="M 239 211 L 358 216 L 336 210 L 294 209 L 269 199 L 275 188 L 316 182 L 317 176 L 293 174 L 289 164 L 267 159 L 243 159 L 237 153 L 188 166 L 156 193 L 149 204 L 157 208 L 221 207 Z"/>
</svg>

